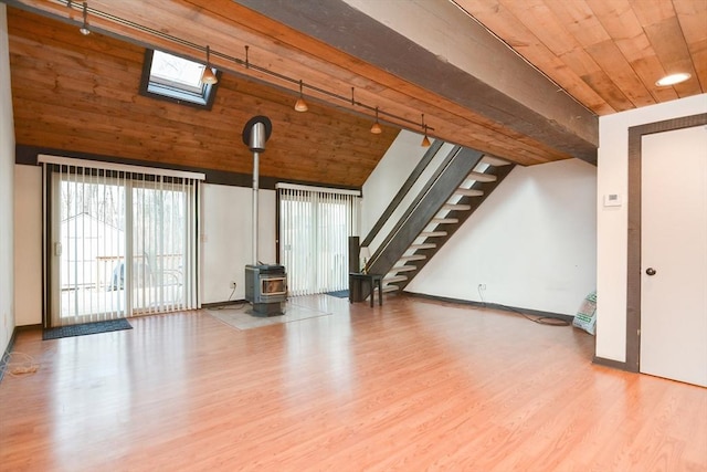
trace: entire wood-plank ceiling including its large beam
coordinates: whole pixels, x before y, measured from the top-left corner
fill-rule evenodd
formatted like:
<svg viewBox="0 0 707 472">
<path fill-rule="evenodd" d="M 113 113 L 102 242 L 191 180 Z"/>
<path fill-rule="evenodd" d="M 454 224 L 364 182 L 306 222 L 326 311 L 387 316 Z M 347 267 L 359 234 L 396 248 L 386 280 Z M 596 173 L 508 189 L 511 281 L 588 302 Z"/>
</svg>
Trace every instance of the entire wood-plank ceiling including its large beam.
<svg viewBox="0 0 707 472">
<path fill-rule="evenodd" d="M 421 132 L 422 113 L 432 136 L 521 165 L 592 161 L 597 115 L 707 83 L 703 0 L 408 0 L 409 18 L 434 9 L 426 23 L 455 27 L 444 54 L 395 31 L 394 11 L 349 4 L 362 0 L 89 0 L 88 36 L 77 2 L 2 1 L 24 10 L 8 9 L 18 144 L 250 174 L 241 130 L 264 114 L 274 132 L 261 175 L 283 180 L 361 186 L 397 127 Z M 146 46 L 203 60 L 207 44 L 224 72 L 211 111 L 138 94 Z M 243 66 L 246 45 L 250 64 L 305 82 L 309 112 L 292 108 L 296 83 Z M 676 70 L 693 77 L 654 85 Z M 351 87 L 367 106 L 317 92 Z M 381 135 L 369 133 L 369 106 L 388 125 Z"/>
</svg>

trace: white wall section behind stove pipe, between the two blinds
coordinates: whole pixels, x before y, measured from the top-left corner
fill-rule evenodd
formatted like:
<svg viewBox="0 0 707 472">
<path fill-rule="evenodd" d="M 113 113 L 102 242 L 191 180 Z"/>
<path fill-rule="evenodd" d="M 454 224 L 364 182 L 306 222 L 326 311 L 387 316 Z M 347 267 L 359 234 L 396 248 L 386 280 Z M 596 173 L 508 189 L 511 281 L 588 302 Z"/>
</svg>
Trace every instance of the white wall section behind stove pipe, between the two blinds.
<svg viewBox="0 0 707 472">
<path fill-rule="evenodd" d="M 201 210 L 202 303 L 243 300 L 245 265 L 253 263 L 253 207 L 251 188 L 203 185 Z M 258 193 L 258 260 L 275 263 L 274 190 Z"/>
</svg>

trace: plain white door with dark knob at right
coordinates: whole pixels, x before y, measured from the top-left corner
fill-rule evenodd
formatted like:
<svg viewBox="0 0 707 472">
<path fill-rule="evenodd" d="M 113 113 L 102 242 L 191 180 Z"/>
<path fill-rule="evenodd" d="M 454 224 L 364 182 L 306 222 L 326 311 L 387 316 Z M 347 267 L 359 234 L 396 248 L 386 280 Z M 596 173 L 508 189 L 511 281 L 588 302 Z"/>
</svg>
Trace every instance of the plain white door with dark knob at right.
<svg viewBox="0 0 707 472">
<path fill-rule="evenodd" d="M 707 386 L 707 127 L 643 136 L 641 371 Z"/>
</svg>

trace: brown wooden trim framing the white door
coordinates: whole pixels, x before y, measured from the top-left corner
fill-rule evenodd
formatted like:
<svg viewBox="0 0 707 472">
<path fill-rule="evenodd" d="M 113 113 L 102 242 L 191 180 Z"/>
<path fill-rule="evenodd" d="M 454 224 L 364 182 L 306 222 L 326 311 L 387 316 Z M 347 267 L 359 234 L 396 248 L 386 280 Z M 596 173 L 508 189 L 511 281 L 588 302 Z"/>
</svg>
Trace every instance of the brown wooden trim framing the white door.
<svg viewBox="0 0 707 472">
<path fill-rule="evenodd" d="M 707 113 L 629 128 L 629 206 L 626 256 L 626 370 L 641 367 L 641 162 L 642 138 L 655 133 L 707 125 Z"/>
</svg>

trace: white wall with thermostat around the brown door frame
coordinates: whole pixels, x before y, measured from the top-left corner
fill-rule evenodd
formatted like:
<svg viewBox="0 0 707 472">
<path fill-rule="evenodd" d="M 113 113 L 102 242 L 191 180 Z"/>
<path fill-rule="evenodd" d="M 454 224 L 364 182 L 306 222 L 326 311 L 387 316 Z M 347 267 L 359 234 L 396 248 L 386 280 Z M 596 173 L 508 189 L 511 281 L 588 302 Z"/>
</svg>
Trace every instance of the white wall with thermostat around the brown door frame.
<svg viewBox="0 0 707 472">
<path fill-rule="evenodd" d="M 597 357 L 625 361 L 629 127 L 700 113 L 707 113 L 707 94 L 599 119 Z M 603 207 L 609 193 L 622 196 L 623 204 Z"/>
</svg>

